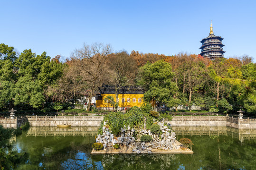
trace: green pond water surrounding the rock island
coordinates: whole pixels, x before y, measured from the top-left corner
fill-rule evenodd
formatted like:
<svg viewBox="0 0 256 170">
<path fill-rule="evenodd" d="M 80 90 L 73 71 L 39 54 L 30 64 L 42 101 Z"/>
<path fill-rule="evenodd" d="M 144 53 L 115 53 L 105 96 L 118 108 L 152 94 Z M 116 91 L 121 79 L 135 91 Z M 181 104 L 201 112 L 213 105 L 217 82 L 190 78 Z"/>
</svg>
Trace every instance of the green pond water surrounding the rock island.
<svg viewBox="0 0 256 170">
<path fill-rule="evenodd" d="M 90 155 L 97 127 L 30 127 L 13 150 L 28 153 L 18 170 L 256 170 L 256 130 L 173 127 L 194 154 Z"/>
</svg>

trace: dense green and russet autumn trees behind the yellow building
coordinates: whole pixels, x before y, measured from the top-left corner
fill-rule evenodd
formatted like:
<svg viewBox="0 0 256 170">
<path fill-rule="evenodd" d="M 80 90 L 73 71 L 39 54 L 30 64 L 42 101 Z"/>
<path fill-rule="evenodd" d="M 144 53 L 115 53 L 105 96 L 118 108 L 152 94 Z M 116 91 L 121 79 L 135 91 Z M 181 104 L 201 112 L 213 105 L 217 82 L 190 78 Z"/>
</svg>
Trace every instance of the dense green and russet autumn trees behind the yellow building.
<svg viewBox="0 0 256 170">
<path fill-rule="evenodd" d="M 63 60 L 46 52 L 19 54 L 14 47 L 0 44 L 0 111 L 14 106 L 68 109 L 83 96 L 90 102 L 103 84 L 115 85 L 116 95 L 124 85 L 139 86 L 145 90 L 145 102 L 156 101 L 175 110 L 178 105 L 196 105 L 212 112 L 242 109 L 256 114 L 256 64 L 246 55 L 210 60 L 187 53 L 129 54 L 94 43 L 84 44 Z"/>
</svg>

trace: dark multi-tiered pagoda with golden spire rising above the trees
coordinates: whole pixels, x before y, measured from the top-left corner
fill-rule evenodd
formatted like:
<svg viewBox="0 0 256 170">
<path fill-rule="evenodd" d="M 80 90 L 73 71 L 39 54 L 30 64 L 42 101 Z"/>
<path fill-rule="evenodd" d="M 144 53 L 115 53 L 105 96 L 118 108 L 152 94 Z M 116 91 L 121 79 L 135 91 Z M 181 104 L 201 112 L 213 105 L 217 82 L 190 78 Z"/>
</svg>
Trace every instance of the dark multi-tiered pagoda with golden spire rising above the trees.
<svg viewBox="0 0 256 170">
<path fill-rule="evenodd" d="M 200 41 L 202 43 L 202 46 L 199 48 L 201 49 L 200 55 L 208 59 L 224 57 L 223 53 L 225 53 L 226 51 L 223 51 L 222 49 L 224 45 L 221 41 L 223 39 L 224 38 L 213 34 L 211 23 L 209 36 Z"/>
</svg>

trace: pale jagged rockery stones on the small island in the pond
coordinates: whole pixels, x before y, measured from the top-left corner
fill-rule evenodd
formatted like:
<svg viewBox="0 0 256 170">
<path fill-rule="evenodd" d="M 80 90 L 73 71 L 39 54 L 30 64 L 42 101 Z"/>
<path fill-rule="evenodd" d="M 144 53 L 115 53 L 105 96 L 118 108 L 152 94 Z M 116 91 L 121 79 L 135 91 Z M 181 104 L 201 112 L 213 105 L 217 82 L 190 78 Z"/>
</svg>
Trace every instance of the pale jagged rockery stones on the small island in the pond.
<svg viewBox="0 0 256 170">
<path fill-rule="evenodd" d="M 104 125 L 106 123 L 104 122 Z M 140 129 L 138 132 L 138 140 L 134 138 L 134 128 L 121 127 L 121 136 L 114 138 L 114 135 L 111 133 L 108 128 L 105 126 L 102 127 L 103 135 L 98 135 L 96 138 L 96 142 L 102 143 L 104 145 L 104 150 L 106 148 L 112 148 L 114 144 L 124 145 L 129 147 L 135 153 L 152 153 L 152 149 L 164 149 L 164 150 L 172 150 L 179 149 L 180 145 L 175 144 L 175 132 L 173 132 L 169 127 L 165 126 L 163 122 L 158 122 L 158 125 L 161 129 L 161 135 L 152 134 L 150 130 Z M 142 135 L 150 135 L 152 136 L 151 142 L 140 142 L 140 137 Z"/>
</svg>

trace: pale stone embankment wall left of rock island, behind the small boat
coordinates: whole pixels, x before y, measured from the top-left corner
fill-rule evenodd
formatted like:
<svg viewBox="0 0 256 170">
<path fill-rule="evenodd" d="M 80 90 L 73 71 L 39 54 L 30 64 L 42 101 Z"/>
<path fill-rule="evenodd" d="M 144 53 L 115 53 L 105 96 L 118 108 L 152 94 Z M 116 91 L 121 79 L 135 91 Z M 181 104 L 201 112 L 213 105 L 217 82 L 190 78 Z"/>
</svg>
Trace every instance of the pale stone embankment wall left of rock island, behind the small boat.
<svg viewBox="0 0 256 170">
<path fill-rule="evenodd" d="M 28 116 L 31 126 L 100 126 L 103 116 Z"/>
</svg>

